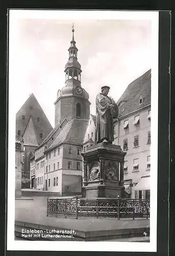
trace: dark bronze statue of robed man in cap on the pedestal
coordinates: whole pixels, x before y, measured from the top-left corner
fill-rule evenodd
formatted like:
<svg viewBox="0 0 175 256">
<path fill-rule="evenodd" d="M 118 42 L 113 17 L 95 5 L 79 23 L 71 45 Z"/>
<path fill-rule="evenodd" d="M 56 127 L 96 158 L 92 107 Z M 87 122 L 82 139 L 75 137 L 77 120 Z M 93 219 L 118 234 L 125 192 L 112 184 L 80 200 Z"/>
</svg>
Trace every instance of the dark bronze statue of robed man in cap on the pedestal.
<svg viewBox="0 0 175 256">
<path fill-rule="evenodd" d="M 113 119 L 118 116 L 118 106 L 108 97 L 110 87 L 102 87 L 102 93 L 96 96 L 96 133 L 95 143 L 114 141 Z"/>
</svg>

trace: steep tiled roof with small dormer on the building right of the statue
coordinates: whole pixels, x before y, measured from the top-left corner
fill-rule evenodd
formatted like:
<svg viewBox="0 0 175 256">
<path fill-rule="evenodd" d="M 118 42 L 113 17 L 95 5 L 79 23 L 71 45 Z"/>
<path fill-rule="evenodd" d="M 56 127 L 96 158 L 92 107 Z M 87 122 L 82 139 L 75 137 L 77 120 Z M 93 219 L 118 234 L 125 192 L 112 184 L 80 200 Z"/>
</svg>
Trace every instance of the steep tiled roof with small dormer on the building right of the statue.
<svg viewBox="0 0 175 256">
<path fill-rule="evenodd" d="M 139 99 L 142 97 L 142 103 Z M 119 98 L 118 117 L 134 112 L 143 106 L 151 104 L 151 70 L 134 80 Z"/>
</svg>

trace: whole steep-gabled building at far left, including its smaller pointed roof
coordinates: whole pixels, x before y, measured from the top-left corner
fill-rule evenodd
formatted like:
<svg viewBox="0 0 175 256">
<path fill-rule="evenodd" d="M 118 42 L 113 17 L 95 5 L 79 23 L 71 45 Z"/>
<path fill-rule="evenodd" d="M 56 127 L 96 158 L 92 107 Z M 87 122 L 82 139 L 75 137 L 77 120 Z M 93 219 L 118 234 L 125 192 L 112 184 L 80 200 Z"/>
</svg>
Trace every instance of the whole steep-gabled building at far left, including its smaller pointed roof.
<svg viewBox="0 0 175 256">
<path fill-rule="evenodd" d="M 37 99 L 31 94 L 16 114 L 16 139 L 24 142 L 22 178 L 30 181 L 30 158 L 52 129 Z M 29 188 L 30 182 L 22 185 Z"/>
</svg>

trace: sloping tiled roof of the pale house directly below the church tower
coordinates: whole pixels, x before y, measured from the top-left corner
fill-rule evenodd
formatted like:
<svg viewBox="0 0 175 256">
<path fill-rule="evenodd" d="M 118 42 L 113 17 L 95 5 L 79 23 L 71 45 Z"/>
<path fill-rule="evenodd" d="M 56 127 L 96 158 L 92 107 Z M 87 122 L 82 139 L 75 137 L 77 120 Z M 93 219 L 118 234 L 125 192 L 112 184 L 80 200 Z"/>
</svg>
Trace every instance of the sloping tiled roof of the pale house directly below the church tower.
<svg viewBox="0 0 175 256">
<path fill-rule="evenodd" d="M 70 122 L 66 123 L 58 136 L 53 141 L 53 143 L 47 148 L 47 151 L 51 150 L 52 148 L 56 147 L 61 143 L 70 143 L 76 145 L 83 144 L 87 122 L 88 120 L 75 118 Z"/>
</svg>

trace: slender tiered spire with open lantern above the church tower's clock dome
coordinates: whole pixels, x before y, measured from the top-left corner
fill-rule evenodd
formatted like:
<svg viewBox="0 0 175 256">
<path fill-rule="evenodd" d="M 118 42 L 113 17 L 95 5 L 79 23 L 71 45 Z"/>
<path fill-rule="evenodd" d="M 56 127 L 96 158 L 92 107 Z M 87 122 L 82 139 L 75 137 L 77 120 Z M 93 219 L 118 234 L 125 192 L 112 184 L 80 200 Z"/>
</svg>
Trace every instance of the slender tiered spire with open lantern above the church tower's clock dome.
<svg viewBox="0 0 175 256">
<path fill-rule="evenodd" d="M 65 86 L 70 86 L 70 84 L 76 84 L 81 86 L 81 65 L 78 62 L 76 47 L 76 41 L 74 40 L 74 25 L 72 25 L 72 40 L 70 41 L 70 47 L 68 49 L 69 58 L 65 65 L 64 72 L 66 73 L 65 77 Z M 76 80 L 76 81 L 74 81 Z"/>
</svg>

